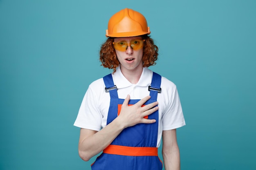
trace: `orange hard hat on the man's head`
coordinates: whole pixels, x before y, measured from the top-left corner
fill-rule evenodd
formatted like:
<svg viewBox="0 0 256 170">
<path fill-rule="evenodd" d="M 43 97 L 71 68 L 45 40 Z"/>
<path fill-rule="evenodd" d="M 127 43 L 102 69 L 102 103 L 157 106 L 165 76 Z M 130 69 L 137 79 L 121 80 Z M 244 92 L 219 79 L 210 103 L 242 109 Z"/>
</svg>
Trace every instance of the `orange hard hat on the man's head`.
<svg viewBox="0 0 256 170">
<path fill-rule="evenodd" d="M 107 37 L 134 37 L 150 34 L 146 18 L 132 9 L 122 9 L 108 21 Z"/>
</svg>

